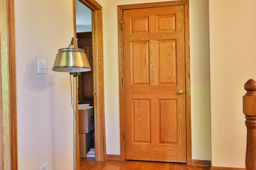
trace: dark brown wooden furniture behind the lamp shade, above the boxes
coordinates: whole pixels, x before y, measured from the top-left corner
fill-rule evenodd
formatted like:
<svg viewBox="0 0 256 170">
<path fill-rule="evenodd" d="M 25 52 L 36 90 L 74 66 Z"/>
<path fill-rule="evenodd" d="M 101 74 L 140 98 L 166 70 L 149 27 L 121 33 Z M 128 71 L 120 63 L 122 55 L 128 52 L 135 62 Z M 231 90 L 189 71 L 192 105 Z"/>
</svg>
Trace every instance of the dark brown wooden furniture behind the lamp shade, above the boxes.
<svg viewBox="0 0 256 170">
<path fill-rule="evenodd" d="M 87 55 L 91 71 L 81 72 L 78 76 L 78 104 L 90 104 L 93 106 L 93 59 L 92 59 L 92 32 L 76 33 L 77 47 L 84 49 Z"/>
</svg>

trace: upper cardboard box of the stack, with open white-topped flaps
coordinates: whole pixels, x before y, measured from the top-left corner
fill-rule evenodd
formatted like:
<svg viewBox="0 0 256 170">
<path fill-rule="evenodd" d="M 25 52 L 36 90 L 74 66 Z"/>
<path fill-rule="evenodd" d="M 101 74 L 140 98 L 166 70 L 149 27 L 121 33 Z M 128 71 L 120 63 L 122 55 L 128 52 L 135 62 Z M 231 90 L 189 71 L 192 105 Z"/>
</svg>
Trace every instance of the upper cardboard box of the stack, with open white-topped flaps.
<svg viewBox="0 0 256 170">
<path fill-rule="evenodd" d="M 79 133 L 89 133 L 94 129 L 94 107 L 89 104 L 78 105 Z"/>
</svg>

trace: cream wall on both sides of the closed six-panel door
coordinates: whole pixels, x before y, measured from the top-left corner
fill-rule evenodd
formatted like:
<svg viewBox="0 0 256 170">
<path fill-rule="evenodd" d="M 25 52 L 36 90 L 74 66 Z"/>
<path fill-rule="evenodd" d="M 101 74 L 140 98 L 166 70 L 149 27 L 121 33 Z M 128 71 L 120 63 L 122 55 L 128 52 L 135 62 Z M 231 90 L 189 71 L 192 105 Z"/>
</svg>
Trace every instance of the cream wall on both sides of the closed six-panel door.
<svg viewBox="0 0 256 170">
<path fill-rule="evenodd" d="M 168 0 L 104 0 L 104 91 L 107 154 L 120 154 L 117 6 Z M 208 1 L 190 2 L 192 158 L 211 159 Z"/>
</svg>

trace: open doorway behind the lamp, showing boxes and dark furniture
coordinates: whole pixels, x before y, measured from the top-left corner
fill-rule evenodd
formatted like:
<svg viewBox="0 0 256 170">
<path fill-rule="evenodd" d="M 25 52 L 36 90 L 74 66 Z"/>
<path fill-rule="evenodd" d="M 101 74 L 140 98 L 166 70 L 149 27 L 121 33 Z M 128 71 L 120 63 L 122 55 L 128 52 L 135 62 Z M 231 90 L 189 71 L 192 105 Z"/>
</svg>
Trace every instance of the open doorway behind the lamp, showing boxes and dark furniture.
<svg viewBox="0 0 256 170">
<path fill-rule="evenodd" d="M 81 111 L 79 117 L 79 150 L 80 159 L 86 157 L 95 158 L 94 140 L 94 97 L 93 97 L 93 59 L 92 59 L 92 10 L 76 0 L 76 40 L 77 48 L 84 49 L 87 55 L 90 71 L 81 72 L 78 76 L 78 109 L 88 108 Z M 80 112 L 80 111 L 79 111 Z M 85 121 L 85 119 L 87 121 Z"/>
</svg>

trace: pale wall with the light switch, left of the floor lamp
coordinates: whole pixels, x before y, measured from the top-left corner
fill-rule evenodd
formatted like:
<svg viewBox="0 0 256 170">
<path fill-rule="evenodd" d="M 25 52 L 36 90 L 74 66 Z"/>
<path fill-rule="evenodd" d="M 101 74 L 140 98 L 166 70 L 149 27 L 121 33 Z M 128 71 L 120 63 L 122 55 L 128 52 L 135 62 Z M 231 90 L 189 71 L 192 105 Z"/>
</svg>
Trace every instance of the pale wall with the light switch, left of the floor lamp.
<svg viewBox="0 0 256 170">
<path fill-rule="evenodd" d="M 68 73 L 51 70 L 73 35 L 72 0 L 14 0 L 18 169 L 73 167 L 73 116 Z M 37 74 L 37 59 L 47 74 Z"/>
</svg>

